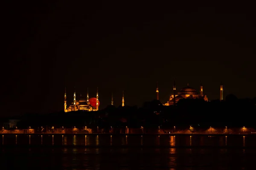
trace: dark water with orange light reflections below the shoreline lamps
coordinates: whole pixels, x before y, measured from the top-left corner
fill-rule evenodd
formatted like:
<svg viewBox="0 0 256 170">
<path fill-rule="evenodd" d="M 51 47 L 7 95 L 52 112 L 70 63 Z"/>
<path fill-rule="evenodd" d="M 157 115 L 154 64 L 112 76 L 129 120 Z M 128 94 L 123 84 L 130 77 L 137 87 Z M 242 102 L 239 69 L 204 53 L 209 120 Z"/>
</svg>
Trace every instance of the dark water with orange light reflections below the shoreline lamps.
<svg viewBox="0 0 256 170">
<path fill-rule="evenodd" d="M 0 170 L 256 169 L 256 135 L 4 135 L 0 142 Z"/>
</svg>

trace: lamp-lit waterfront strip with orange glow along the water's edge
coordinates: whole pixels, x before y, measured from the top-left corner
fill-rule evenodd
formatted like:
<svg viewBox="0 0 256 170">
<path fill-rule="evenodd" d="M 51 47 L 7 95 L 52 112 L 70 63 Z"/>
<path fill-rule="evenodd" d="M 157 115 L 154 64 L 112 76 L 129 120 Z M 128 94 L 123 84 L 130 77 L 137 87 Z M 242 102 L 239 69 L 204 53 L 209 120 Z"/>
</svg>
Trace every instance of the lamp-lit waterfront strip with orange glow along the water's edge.
<svg viewBox="0 0 256 170">
<path fill-rule="evenodd" d="M 182 135 L 182 134 L 200 134 L 200 135 L 243 135 L 243 134 L 256 134 L 256 130 L 251 127 L 237 127 L 237 128 L 193 128 L 189 127 L 187 129 L 178 129 L 177 127 L 173 128 L 47 128 L 47 130 L 44 130 L 44 128 L 38 129 L 16 129 L 16 130 L 5 130 L 2 129 L 0 131 L 0 134 L 172 134 L 172 135 Z"/>
</svg>

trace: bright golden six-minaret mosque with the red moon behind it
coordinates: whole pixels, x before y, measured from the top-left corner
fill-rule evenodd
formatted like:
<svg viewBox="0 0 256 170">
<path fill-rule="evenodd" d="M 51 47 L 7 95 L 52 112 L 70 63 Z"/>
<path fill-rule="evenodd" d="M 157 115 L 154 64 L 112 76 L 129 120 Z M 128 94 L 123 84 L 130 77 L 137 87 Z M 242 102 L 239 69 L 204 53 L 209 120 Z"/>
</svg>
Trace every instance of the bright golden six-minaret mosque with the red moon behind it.
<svg viewBox="0 0 256 170">
<path fill-rule="evenodd" d="M 74 91 L 74 99 L 71 105 L 67 108 L 67 93 L 65 88 L 65 94 L 64 94 L 64 111 L 70 112 L 70 111 L 98 111 L 99 110 L 99 91 L 97 88 L 96 97 L 89 98 L 89 90 L 87 88 L 87 97 L 80 95 L 80 99 L 76 100 L 76 91 Z M 113 93 L 111 96 L 111 105 L 114 104 L 113 101 Z M 125 106 L 125 97 L 124 97 L 124 91 L 122 95 L 122 106 Z"/>
</svg>

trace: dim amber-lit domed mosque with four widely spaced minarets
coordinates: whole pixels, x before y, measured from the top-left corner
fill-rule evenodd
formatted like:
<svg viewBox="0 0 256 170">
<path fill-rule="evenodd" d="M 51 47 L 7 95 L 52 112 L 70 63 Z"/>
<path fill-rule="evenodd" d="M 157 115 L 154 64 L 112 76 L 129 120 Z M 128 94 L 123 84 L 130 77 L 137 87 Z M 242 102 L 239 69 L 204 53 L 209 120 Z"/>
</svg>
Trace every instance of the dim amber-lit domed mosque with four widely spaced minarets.
<svg viewBox="0 0 256 170">
<path fill-rule="evenodd" d="M 158 91 L 158 84 L 157 84 L 157 100 L 159 100 L 159 91 Z M 176 94 L 176 85 L 175 81 L 173 83 L 173 94 L 170 95 L 169 101 L 166 102 L 164 105 L 169 106 L 169 105 L 176 105 L 176 103 L 180 99 L 204 99 L 204 101 L 208 101 L 208 98 L 206 94 L 203 93 L 203 85 L 202 83 L 200 84 L 200 92 L 198 93 L 195 88 L 189 87 L 189 84 L 182 88 L 179 92 Z M 223 85 L 221 83 L 220 87 L 220 100 L 223 100 Z"/>
</svg>

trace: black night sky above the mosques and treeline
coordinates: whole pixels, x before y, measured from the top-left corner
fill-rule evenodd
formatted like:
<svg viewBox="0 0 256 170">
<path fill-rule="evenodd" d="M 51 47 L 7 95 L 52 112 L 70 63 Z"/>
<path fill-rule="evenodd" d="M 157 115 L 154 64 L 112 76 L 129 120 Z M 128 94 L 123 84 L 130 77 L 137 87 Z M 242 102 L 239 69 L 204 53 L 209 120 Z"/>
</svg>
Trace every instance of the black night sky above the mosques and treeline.
<svg viewBox="0 0 256 170">
<path fill-rule="evenodd" d="M 77 96 L 141 106 L 177 89 L 256 96 L 253 4 L 9 1 L 2 4 L 1 112 L 60 111 Z"/>
</svg>

